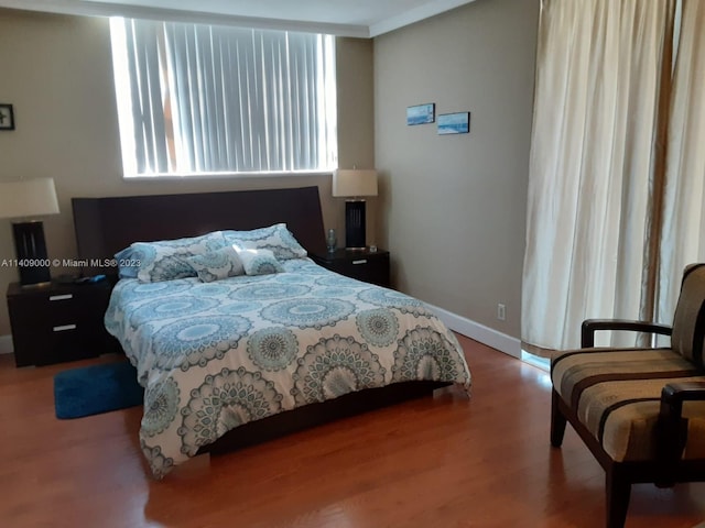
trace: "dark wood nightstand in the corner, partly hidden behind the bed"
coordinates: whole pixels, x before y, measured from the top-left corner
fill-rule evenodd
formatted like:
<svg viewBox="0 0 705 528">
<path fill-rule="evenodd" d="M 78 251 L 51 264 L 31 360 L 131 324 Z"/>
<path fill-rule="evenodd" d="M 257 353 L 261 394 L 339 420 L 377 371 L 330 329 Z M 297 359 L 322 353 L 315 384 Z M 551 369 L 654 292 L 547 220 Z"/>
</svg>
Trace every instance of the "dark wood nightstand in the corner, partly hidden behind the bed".
<svg viewBox="0 0 705 528">
<path fill-rule="evenodd" d="M 390 287 L 389 251 L 336 250 L 333 253 L 308 255 L 314 262 L 332 272 L 358 280 Z"/>
</svg>

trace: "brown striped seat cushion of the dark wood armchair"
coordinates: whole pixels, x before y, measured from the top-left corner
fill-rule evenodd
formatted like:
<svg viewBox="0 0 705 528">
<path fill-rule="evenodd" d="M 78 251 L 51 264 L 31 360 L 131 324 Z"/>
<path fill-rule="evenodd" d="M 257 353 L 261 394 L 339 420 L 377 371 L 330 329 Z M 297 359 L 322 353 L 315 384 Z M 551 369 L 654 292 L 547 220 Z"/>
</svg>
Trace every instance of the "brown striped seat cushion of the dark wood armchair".
<svg viewBox="0 0 705 528">
<path fill-rule="evenodd" d="M 618 462 L 653 460 L 661 389 L 669 382 L 705 381 L 671 349 L 578 350 L 551 364 L 553 387 Z M 705 459 L 705 402 L 686 402 L 684 459 Z"/>
</svg>

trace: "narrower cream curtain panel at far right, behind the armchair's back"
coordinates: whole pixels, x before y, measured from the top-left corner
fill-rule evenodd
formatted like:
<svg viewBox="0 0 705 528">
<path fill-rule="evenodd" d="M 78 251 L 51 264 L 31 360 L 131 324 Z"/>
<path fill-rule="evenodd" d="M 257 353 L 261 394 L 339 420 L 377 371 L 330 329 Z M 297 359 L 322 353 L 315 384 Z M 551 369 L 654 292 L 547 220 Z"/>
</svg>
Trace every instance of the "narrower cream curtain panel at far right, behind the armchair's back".
<svg viewBox="0 0 705 528">
<path fill-rule="evenodd" d="M 683 2 L 668 142 L 658 320 L 670 323 L 685 265 L 705 262 L 705 1 Z"/>
</svg>

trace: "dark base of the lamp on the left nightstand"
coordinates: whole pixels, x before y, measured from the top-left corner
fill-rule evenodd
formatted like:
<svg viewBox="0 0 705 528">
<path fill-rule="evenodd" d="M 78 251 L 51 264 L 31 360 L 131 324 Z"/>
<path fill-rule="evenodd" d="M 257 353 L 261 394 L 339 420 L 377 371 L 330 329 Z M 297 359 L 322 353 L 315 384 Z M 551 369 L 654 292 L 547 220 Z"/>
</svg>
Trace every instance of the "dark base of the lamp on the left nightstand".
<svg viewBox="0 0 705 528">
<path fill-rule="evenodd" d="M 39 286 L 52 280 L 44 226 L 40 221 L 12 223 L 18 270 L 22 286 Z"/>
</svg>

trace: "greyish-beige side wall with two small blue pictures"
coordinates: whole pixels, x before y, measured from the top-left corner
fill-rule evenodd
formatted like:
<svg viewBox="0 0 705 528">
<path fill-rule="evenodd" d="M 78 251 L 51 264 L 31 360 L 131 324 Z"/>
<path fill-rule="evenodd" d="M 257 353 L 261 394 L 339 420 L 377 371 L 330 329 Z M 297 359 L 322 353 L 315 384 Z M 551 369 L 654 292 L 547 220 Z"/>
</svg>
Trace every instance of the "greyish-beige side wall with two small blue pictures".
<svg viewBox="0 0 705 528">
<path fill-rule="evenodd" d="M 539 0 L 477 0 L 375 40 L 378 235 L 395 286 L 520 336 Z M 405 108 L 470 111 L 470 133 Z M 497 320 L 497 304 L 507 320 Z"/>
</svg>

